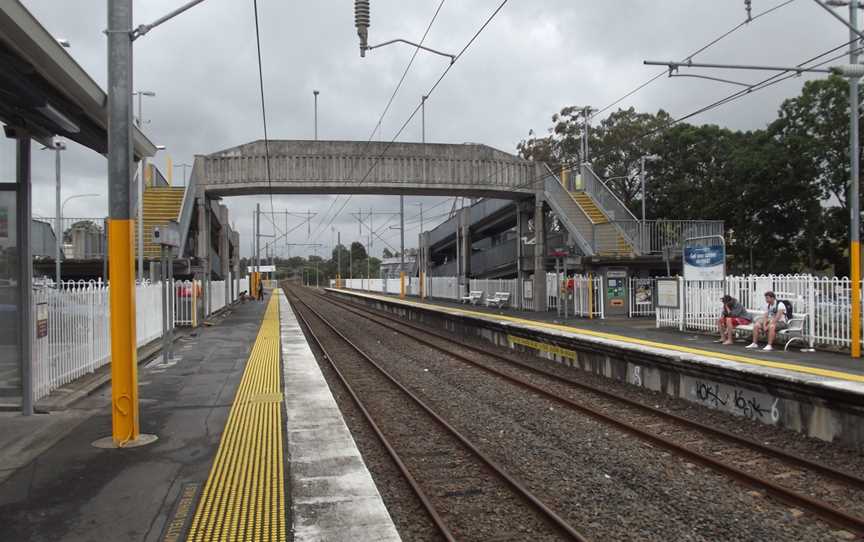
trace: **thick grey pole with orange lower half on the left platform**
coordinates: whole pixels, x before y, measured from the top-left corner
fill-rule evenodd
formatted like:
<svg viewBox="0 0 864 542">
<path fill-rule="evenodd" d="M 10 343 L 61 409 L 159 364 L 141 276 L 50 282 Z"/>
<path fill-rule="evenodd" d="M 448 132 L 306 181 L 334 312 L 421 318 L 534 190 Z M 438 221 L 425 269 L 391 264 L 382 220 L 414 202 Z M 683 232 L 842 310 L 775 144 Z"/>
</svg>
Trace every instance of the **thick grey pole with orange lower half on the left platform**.
<svg viewBox="0 0 864 542">
<path fill-rule="evenodd" d="M 135 334 L 132 175 L 132 2 L 108 3 L 108 261 L 111 309 L 111 437 L 94 446 L 123 448 L 156 440 L 141 435 Z"/>
</svg>

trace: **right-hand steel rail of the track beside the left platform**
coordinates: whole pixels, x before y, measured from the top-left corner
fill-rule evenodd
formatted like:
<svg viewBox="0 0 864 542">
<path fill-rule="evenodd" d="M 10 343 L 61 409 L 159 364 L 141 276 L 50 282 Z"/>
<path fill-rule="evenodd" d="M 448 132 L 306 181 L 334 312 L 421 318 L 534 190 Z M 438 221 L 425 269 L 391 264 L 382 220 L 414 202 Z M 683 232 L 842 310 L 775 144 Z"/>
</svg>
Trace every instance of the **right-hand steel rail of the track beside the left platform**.
<svg viewBox="0 0 864 542">
<path fill-rule="evenodd" d="M 363 351 L 359 346 L 357 346 L 354 342 L 352 342 L 348 337 L 346 337 L 339 329 L 336 328 L 329 320 L 324 318 L 318 311 L 313 309 L 308 303 L 306 303 L 303 299 L 301 299 L 296 293 L 293 293 L 294 298 L 299 301 L 309 312 L 314 314 L 323 324 L 325 324 L 328 328 L 330 328 L 333 333 L 339 336 L 347 345 L 349 345 L 355 352 L 360 354 L 360 356 L 366 360 L 370 365 L 372 365 L 379 373 L 381 373 L 387 380 L 389 380 L 393 385 L 399 388 L 405 395 L 411 398 L 414 403 L 417 404 L 421 409 L 423 409 L 429 416 L 431 416 L 438 424 L 444 427 L 451 435 L 456 437 L 468 450 L 470 450 L 475 456 L 477 456 L 483 463 L 485 463 L 489 468 L 491 468 L 498 476 L 503 478 L 513 489 L 516 490 L 518 494 L 524 497 L 528 502 L 534 505 L 535 508 L 540 510 L 543 515 L 545 515 L 556 527 L 561 529 L 564 533 L 569 535 L 572 539 L 586 542 L 588 539 L 585 538 L 583 534 L 577 531 L 573 526 L 571 526 L 567 521 L 565 521 L 561 516 L 559 516 L 554 510 L 549 508 L 543 501 L 541 501 L 538 497 L 536 497 L 527 487 L 525 487 L 521 482 L 507 473 L 506 470 L 502 466 L 500 466 L 494 459 L 484 454 L 479 448 L 477 448 L 471 441 L 469 441 L 462 433 L 460 433 L 455 427 L 450 425 L 444 418 L 438 415 L 430 406 L 424 403 L 416 394 L 411 392 L 408 388 L 402 385 L 396 378 L 394 378 L 386 369 L 384 369 L 378 362 L 372 359 L 365 351 Z M 308 324 L 307 324 L 308 327 Z M 328 362 L 335 369 L 335 364 L 333 359 L 329 356 L 327 357 Z M 346 382 L 347 384 L 347 382 Z"/>
</svg>

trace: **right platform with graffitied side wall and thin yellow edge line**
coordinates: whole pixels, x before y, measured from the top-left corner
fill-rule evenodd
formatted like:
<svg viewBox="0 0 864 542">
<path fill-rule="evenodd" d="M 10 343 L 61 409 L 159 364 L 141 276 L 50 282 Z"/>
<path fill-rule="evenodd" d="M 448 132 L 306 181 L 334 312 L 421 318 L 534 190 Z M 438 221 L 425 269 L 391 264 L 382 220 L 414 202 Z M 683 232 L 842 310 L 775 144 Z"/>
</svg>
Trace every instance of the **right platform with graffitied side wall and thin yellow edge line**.
<svg viewBox="0 0 864 542">
<path fill-rule="evenodd" d="M 830 352 L 763 352 L 657 329 L 653 320 L 573 318 L 325 289 L 433 328 L 527 351 L 705 407 L 864 447 L 864 362 Z"/>
</svg>

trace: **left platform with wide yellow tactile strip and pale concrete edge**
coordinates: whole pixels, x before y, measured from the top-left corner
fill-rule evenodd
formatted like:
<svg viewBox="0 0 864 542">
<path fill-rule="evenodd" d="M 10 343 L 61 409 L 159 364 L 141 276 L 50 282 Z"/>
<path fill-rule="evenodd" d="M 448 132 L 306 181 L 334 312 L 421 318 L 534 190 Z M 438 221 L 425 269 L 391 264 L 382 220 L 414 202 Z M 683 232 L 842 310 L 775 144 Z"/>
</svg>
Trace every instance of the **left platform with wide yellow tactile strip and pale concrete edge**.
<svg viewBox="0 0 864 542">
<path fill-rule="evenodd" d="M 19 445 L 0 450 L 0 540 L 399 539 L 281 290 L 176 353 L 139 372 L 149 446 L 91 445 L 110 433 L 108 386 L 3 414 Z"/>
</svg>

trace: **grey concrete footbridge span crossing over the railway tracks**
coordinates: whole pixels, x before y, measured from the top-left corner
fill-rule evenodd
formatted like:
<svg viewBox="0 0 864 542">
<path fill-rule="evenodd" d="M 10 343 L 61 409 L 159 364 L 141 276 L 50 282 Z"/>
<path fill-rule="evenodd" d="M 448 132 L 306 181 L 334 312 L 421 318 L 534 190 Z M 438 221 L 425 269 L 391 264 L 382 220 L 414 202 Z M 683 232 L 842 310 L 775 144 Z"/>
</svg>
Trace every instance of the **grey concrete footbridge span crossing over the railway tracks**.
<svg viewBox="0 0 864 542">
<path fill-rule="evenodd" d="M 475 143 L 302 140 L 260 140 L 199 155 L 192 172 L 198 190 L 217 197 L 272 190 L 504 199 L 535 194 L 548 174 L 544 164 Z"/>
</svg>

